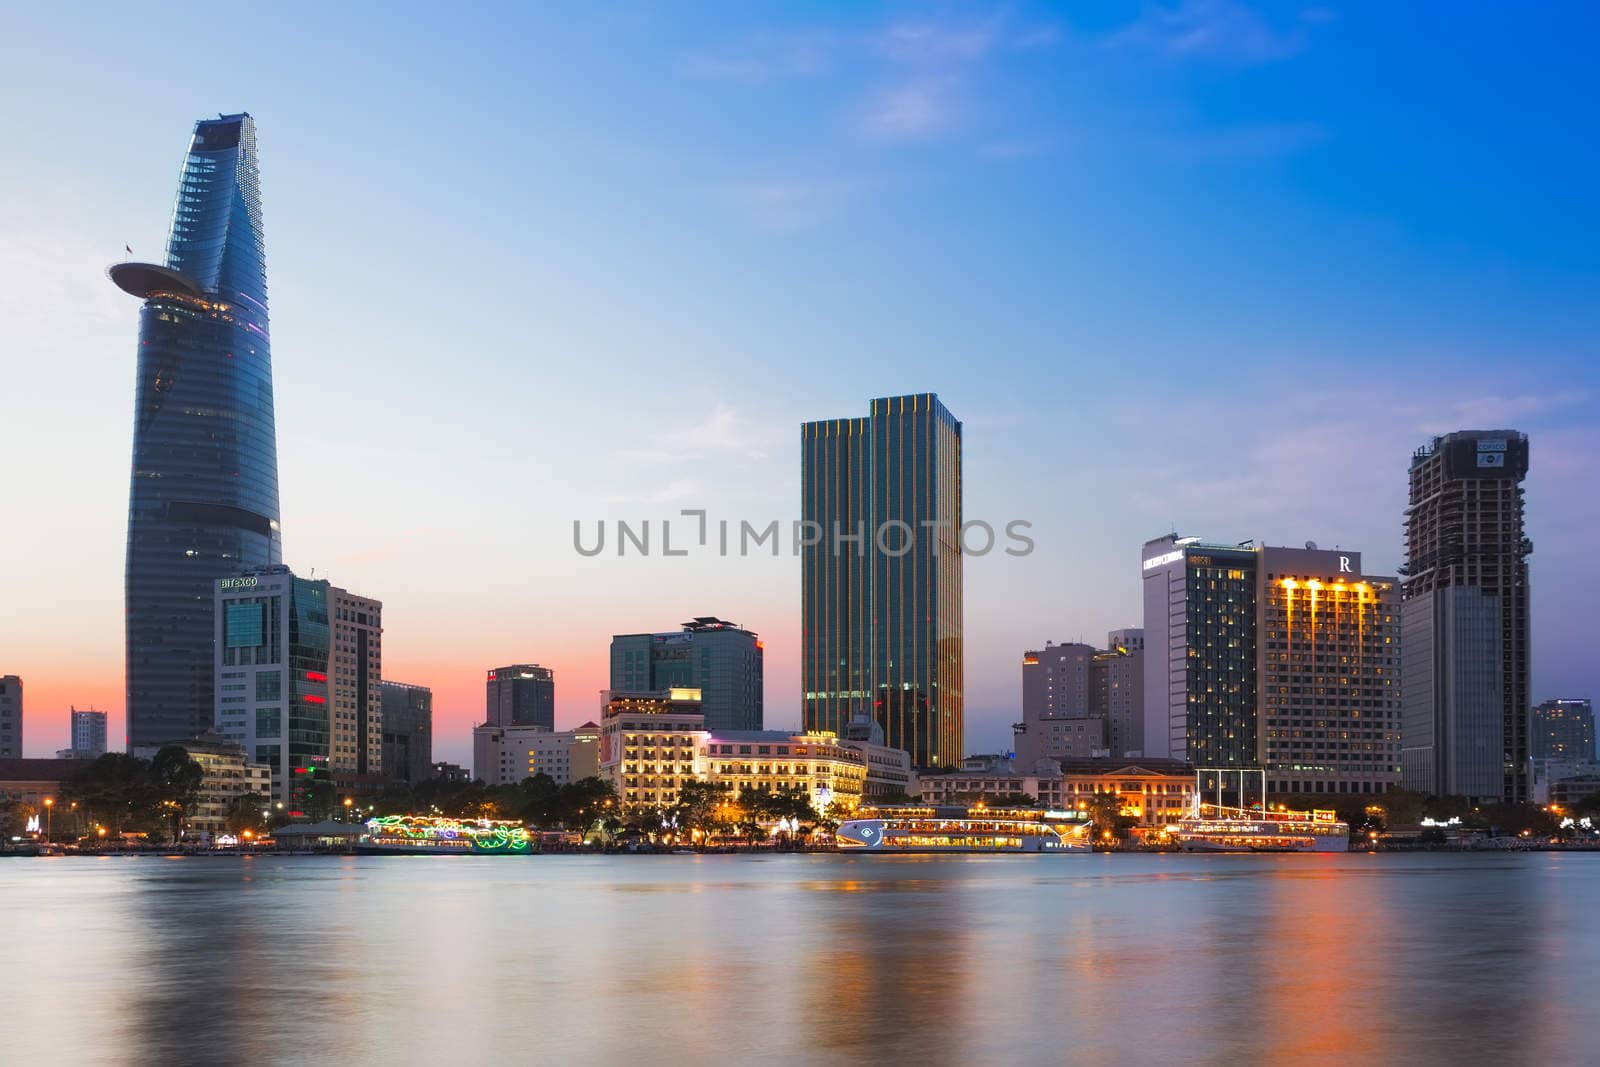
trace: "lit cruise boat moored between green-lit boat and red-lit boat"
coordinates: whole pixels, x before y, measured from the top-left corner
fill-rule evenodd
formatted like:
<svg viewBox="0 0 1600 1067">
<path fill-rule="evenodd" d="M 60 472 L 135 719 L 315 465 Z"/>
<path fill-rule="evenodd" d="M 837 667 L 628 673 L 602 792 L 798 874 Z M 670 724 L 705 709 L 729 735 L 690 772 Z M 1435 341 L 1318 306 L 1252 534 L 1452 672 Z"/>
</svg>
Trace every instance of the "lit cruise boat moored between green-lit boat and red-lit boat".
<svg viewBox="0 0 1600 1067">
<path fill-rule="evenodd" d="M 1082 811 L 862 808 L 834 832 L 842 853 L 1088 853 Z"/>
</svg>

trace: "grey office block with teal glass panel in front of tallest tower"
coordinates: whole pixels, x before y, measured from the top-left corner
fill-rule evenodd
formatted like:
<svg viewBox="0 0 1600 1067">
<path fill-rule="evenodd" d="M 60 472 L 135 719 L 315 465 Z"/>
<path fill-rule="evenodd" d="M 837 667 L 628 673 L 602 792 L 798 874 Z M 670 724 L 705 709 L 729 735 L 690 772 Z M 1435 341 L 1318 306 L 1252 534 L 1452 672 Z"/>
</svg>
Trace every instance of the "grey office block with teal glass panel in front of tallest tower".
<svg viewBox="0 0 1600 1067">
<path fill-rule="evenodd" d="M 272 768 L 285 803 L 328 773 L 328 582 L 286 566 L 214 590 L 216 733 Z"/>
</svg>

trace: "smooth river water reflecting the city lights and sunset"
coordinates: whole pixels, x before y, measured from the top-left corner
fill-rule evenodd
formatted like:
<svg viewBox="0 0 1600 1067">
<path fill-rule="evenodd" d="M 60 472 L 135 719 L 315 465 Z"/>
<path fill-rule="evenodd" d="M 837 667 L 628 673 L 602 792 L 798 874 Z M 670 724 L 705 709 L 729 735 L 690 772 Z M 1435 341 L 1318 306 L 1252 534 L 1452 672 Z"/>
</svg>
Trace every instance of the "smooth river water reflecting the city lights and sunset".
<svg viewBox="0 0 1600 1067">
<path fill-rule="evenodd" d="M 0 1062 L 1600 1062 L 1600 854 L 0 859 Z"/>
</svg>

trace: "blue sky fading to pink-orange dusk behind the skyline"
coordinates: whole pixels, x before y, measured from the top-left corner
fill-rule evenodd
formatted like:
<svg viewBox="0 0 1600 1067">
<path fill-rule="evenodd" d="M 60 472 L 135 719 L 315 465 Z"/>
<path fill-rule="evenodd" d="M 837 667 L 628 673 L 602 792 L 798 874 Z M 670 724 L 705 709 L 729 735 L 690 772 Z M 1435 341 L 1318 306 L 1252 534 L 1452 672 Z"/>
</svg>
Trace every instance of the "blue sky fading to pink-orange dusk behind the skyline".
<svg viewBox="0 0 1600 1067">
<path fill-rule="evenodd" d="M 205 27 L 197 30 L 195 27 Z M 123 736 L 138 302 L 197 118 L 256 117 L 285 561 L 384 601 L 470 761 L 483 670 L 594 718 L 611 633 L 762 633 L 800 565 L 573 523 L 790 522 L 806 419 L 938 392 L 966 745 L 1021 653 L 1141 624 L 1139 545 L 1402 561 L 1406 466 L 1523 430 L 1533 696 L 1597 688 L 1600 74 L 1582 3 L 11 5 L 0 11 L 0 673 L 29 755 Z M 680 523 L 693 520 L 678 518 Z M 675 526 L 674 541 L 690 526 Z M 659 541 L 656 542 L 659 549 Z"/>
</svg>

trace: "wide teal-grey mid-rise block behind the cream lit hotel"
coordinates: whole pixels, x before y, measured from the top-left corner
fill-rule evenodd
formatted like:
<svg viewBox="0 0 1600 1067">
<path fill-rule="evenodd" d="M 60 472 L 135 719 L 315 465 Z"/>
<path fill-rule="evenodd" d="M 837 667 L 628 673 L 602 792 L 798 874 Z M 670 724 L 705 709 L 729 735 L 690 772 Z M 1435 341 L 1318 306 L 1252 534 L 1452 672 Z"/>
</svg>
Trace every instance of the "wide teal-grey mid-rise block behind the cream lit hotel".
<svg viewBox="0 0 1600 1067">
<path fill-rule="evenodd" d="M 618 633 L 611 689 L 699 689 L 706 729 L 762 729 L 763 656 L 760 637 L 714 616 L 670 633 Z"/>
</svg>

